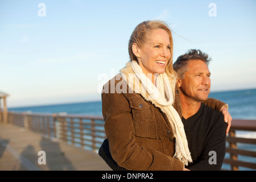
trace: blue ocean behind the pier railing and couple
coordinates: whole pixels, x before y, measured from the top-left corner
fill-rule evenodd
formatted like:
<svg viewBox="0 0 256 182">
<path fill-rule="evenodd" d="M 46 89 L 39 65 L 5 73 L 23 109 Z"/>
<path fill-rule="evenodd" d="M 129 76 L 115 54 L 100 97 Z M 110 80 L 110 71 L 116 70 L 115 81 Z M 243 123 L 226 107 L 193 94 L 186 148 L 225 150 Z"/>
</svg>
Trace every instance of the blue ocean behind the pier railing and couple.
<svg viewBox="0 0 256 182">
<path fill-rule="evenodd" d="M 233 119 L 255 119 L 256 120 L 256 89 L 232 90 L 225 92 L 212 92 L 209 97 L 216 98 L 229 105 L 229 113 Z M 59 104 L 59 105 L 44 105 L 44 106 L 31 106 L 31 107 L 13 107 L 9 111 L 32 113 L 67 113 L 79 115 L 102 115 L 101 101 L 95 102 L 80 102 L 73 104 Z M 238 137 L 256 138 L 256 132 L 237 131 Z M 255 145 L 240 144 L 238 148 L 250 149 L 256 151 Z M 228 157 L 228 154 L 225 158 Z M 255 162 L 256 158 L 240 156 L 238 159 Z M 229 165 L 223 164 L 222 168 L 230 169 Z M 240 167 L 240 170 L 249 170 Z"/>
</svg>

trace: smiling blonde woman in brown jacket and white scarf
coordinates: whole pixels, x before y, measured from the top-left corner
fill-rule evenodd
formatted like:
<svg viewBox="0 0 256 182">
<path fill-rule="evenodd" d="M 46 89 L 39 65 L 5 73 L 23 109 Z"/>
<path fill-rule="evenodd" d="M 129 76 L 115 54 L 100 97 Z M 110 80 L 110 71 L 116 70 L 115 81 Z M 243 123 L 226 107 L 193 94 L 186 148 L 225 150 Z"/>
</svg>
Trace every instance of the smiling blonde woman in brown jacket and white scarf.
<svg viewBox="0 0 256 182">
<path fill-rule="evenodd" d="M 140 23 L 129 41 L 131 61 L 104 85 L 102 114 L 108 137 L 104 143 L 109 143 L 111 156 L 119 167 L 183 170 L 192 162 L 180 119 L 172 48 L 167 24 Z M 217 110 L 224 105 L 220 101 L 209 102 Z"/>
</svg>

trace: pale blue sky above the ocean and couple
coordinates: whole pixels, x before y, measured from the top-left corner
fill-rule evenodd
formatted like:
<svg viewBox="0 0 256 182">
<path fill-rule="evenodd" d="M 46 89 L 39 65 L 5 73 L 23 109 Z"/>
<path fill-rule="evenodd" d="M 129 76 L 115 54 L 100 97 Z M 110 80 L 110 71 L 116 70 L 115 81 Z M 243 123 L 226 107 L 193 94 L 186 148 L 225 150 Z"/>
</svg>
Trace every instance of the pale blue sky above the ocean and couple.
<svg viewBox="0 0 256 182">
<path fill-rule="evenodd" d="M 0 92 L 9 107 L 100 101 L 144 20 L 173 32 L 174 61 L 212 58 L 211 92 L 256 88 L 256 1 L 0 0 Z"/>
</svg>

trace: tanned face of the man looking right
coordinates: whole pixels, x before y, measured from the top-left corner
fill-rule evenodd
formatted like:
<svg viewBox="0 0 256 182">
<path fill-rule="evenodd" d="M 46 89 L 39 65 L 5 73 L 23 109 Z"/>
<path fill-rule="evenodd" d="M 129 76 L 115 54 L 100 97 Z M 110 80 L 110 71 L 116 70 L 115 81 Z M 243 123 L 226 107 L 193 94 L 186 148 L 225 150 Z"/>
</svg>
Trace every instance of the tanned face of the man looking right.
<svg viewBox="0 0 256 182">
<path fill-rule="evenodd" d="M 205 101 L 210 93 L 210 71 L 208 65 L 202 60 L 189 60 L 187 72 L 178 85 L 181 94 L 193 101 Z"/>
</svg>

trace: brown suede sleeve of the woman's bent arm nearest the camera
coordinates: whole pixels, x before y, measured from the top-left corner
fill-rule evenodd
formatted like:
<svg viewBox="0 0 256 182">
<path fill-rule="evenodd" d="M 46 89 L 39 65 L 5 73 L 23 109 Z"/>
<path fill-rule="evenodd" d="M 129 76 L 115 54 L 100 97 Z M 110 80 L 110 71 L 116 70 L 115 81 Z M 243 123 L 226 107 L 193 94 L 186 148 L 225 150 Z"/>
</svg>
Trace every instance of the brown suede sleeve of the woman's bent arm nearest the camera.
<svg viewBox="0 0 256 182">
<path fill-rule="evenodd" d="M 110 154 L 128 170 L 183 170 L 180 160 L 135 143 L 129 101 L 123 93 L 102 93 L 102 114 Z"/>
</svg>

